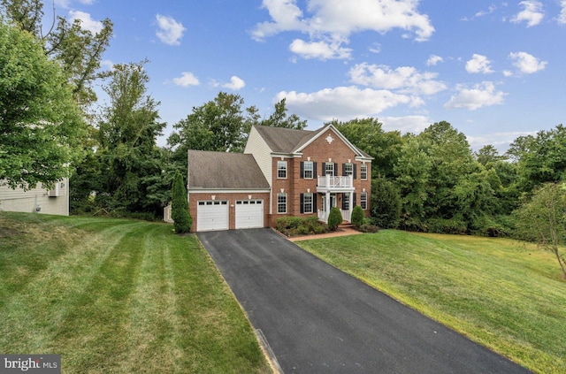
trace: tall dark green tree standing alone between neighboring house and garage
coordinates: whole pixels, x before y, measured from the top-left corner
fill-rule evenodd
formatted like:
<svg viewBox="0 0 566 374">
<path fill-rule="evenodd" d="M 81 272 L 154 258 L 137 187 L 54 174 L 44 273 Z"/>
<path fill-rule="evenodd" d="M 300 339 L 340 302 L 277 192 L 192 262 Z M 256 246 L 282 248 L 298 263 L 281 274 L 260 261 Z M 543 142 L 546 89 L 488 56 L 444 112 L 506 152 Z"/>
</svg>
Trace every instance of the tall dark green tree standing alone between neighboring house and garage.
<svg viewBox="0 0 566 374">
<path fill-rule="evenodd" d="M 104 183 L 97 199 L 111 209 L 160 214 L 169 197 L 157 147 L 165 124 L 159 120 L 159 103 L 146 94 L 144 64 L 116 65 L 103 86 L 110 101 L 98 125 L 96 153 Z"/>
</svg>

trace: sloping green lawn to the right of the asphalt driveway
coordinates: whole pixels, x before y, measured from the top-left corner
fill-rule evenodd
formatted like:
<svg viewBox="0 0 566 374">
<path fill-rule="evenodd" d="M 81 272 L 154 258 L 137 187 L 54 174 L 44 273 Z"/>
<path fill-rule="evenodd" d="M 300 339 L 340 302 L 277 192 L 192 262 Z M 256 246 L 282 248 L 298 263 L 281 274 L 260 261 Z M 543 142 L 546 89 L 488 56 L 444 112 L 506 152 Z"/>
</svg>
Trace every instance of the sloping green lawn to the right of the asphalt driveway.
<svg viewBox="0 0 566 374">
<path fill-rule="evenodd" d="M 566 373 L 566 281 L 515 240 L 382 231 L 297 243 L 540 373 Z"/>
</svg>

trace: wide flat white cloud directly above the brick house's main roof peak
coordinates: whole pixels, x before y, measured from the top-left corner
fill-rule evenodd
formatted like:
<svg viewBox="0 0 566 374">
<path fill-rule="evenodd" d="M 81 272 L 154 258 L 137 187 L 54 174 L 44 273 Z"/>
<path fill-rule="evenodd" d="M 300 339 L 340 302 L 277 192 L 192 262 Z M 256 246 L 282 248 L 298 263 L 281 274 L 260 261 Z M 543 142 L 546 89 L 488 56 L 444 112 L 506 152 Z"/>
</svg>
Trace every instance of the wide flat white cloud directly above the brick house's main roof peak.
<svg viewBox="0 0 566 374">
<path fill-rule="evenodd" d="M 312 93 L 281 91 L 273 102 L 278 103 L 283 98 L 287 98 L 289 111 L 304 118 L 323 121 L 371 117 L 400 104 L 422 104 L 418 97 L 354 86 L 325 88 Z"/>
</svg>

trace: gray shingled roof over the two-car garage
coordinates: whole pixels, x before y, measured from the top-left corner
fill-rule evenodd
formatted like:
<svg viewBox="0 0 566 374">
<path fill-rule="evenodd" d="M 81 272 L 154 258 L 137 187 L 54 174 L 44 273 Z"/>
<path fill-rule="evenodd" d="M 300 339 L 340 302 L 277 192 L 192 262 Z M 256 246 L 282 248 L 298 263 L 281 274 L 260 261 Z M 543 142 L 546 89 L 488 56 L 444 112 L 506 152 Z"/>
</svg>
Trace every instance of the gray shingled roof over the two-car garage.
<svg viewBox="0 0 566 374">
<path fill-rule="evenodd" d="M 189 150 L 188 187 L 269 189 L 269 183 L 252 155 Z"/>
</svg>

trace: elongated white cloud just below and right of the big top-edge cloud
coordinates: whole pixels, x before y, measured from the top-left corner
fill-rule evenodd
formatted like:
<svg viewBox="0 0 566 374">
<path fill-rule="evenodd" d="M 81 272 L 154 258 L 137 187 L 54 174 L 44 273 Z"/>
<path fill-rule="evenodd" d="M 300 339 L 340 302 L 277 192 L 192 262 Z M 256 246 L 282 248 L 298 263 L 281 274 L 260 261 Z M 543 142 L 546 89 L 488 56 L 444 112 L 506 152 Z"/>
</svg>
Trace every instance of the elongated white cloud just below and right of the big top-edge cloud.
<svg viewBox="0 0 566 374">
<path fill-rule="evenodd" d="M 372 88 L 398 90 L 402 94 L 434 95 L 445 90 L 446 85 L 435 80 L 437 73 L 419 73 L 412 66 L 400 66 L 392 70 L 386 65 L 354 65 L 349 71 L 353 83 Z"/>
</svg>

